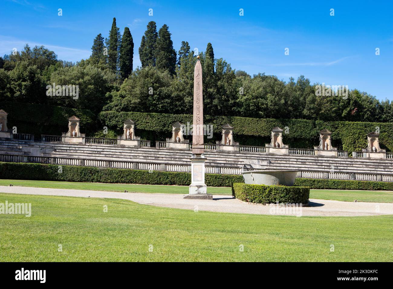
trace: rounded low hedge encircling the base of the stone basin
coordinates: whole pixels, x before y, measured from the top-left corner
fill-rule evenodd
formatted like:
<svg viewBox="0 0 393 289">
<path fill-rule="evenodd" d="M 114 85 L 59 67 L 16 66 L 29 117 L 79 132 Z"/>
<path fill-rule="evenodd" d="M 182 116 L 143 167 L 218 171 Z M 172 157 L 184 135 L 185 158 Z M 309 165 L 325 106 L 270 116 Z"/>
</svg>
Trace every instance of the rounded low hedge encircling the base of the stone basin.
<svg viewBox="0 0 393 289">
<path fill-rule="evenodd" d="M 289 186 L 266 186 L 244 183 L 232 185 L 232 195 L 241 201 L 266 203 L 308 203 L 310 188 Z"/>
</svg>

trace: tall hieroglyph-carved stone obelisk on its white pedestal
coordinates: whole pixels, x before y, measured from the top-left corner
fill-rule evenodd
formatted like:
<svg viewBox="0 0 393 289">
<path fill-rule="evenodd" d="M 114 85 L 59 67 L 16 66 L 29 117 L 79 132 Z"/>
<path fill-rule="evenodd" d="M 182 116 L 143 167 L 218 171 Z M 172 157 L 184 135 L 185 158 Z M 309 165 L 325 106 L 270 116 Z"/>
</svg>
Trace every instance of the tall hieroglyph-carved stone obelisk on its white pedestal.
<svg viewBox="0 0 393 289">
<path fill-rule="evenodd" d="M 194 68 L 194 112 L 193 112 L 193 153 L 191 155 L 191 185 L 185 199 L 213 199 L 206 193 L 205 161 L 203 145 L 203 96 L 202 65 L 196 61 Z"/>
</svg>

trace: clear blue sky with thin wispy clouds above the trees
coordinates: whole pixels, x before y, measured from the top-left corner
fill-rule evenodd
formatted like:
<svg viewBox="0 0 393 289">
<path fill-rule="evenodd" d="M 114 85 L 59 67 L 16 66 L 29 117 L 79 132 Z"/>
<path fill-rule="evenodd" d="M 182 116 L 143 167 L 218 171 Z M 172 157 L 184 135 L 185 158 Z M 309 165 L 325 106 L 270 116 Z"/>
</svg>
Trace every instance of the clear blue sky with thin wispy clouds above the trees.
<svg viewBox="0 0 393 289">
<path fill-rule="evenodd" d="M 348 85 L 393 100 L 392 1 L 1 0 L 1 6 L 0 55 L 29 43 L 79 61 L 90 56 L 98 33 L 108 37 L 116 17 L 121 33 L 130 28 L 136 67 L 141 37 L 154 20 L 158 29 L 169 26 L 176 51 L 182 40 L 199 51 L 211 42 L 216 58 L 249 74 L 284 81 L 303 74 L 311 83 Z"/>
</svg>

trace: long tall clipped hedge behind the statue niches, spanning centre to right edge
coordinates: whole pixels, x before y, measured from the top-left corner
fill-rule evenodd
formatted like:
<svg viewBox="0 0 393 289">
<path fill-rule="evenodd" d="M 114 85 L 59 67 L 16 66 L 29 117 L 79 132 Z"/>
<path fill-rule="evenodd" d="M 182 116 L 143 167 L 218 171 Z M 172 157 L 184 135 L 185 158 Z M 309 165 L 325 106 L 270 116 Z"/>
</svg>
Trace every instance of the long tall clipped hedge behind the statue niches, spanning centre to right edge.
<svg viewBox="0 0 393 289">
<path fill-rule="evenodd" d="M 131 118 L 136 122 L 136 135 L 142 138 L 165 140 L 171 137 L 171 124 L 180 121 L 192 123 L 190 114 L 158 114 L 145 112 L 114 112 L 99 113 L 102 126 L 107 126 L 121 133 L 123 121 Z M 312 121 L 289 119 L 261 119 L 229 116 L 204 116 L 205 124 L 213 125 L 214 137 L 205 142 L 214 143 L 221 139 L 221 127 L 230 123 L 233 126 L 235 141 L 243 145 L 261 145 L 270 142 L 271 130 L 275 126 L 282 129 L 288 127 L 289 133 L 284 134 L 284 143 L 290 147 L 312 149 L 319 144 L 319 134 L 322 129 L 332 132 L 332 144 L 339 149 L 349 152 L 361 151 L 367 147 L 366 135 L 380 128 L 380 145 L 387 151 L 393 151 L 393 123 L 351 122 L 351 121 Z"/>
</svg>

